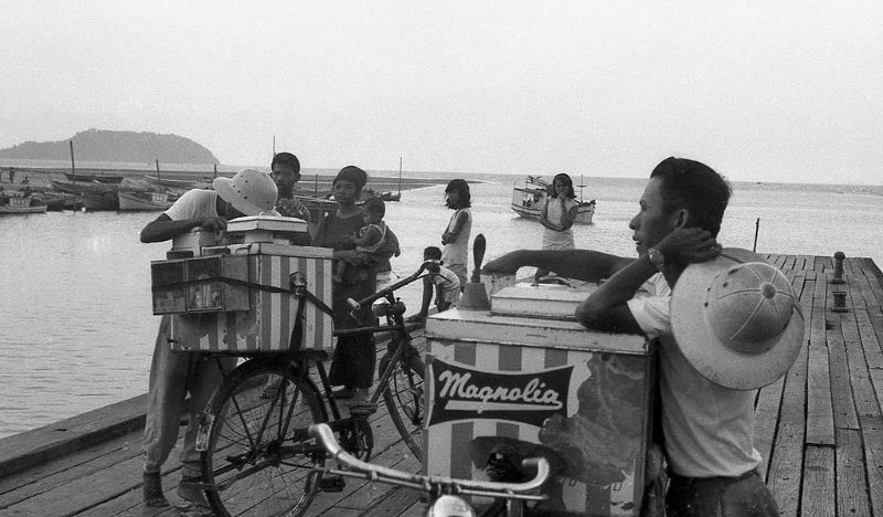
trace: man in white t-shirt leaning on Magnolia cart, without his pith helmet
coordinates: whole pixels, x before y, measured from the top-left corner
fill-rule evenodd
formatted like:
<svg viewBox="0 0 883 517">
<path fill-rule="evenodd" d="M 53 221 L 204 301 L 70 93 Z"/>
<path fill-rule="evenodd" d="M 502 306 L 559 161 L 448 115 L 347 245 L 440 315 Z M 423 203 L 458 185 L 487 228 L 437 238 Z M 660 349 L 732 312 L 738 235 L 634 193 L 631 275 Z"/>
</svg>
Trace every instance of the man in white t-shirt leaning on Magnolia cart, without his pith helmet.
<svg viewBox="0 0 883 517">
<path fill-rule="evenodd" d="M 756 468 L 756 390 L 724 388 L 701 374 L 672 335 L 671 288 L 691 263 L 717 256 L 715 238 L 731 189 L 698 161 L 668 158 L 650 175 L 638 214 L 629 222 L 637 260 L 588 250 L 512 252 L 482 271 L 513 274 L 521 266 L 598 282 L 576 310 L 588 328 L 660 339 L 663 449 L 671 475 L 669 517 L 777 516 Z"/>
</svg>

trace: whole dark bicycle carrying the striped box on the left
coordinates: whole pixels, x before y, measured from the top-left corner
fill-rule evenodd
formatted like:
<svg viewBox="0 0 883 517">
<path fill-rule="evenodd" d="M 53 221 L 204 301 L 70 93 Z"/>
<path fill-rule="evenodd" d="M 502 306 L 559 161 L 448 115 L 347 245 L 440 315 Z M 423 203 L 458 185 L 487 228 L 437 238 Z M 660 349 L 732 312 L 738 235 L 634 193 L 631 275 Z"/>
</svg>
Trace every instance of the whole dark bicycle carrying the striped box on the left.
<svg viewBox="0 0 883 517">
<path fill-rule="evenodd" d="M 301 317 L 307 303 L 330 314 L 331 309 L 306 288 L 300 273 L 291 275 L 292 296 L 299 299 L 289 351 L 247 357 L 215 391 L 202 415 L 196 449 L 201 451 L 202 478 L 190 485 L 202 489 L 219 516 L 302 515 L 319 489 L 340 492 L 339 476 L 322 476 L 326 451 L 310 439 L 313 423 L 329 422 L 343 446 L 368 461 L 373 434 L 368 418 L 381 394 L 396 430 L 409 450 L 423 460 L 424 365 L 405 326 L 405 305 L 395 291 L 422 278 L 423 270 L 361 300 L 348 300 L 353 313 L 372 307 L 385 325 L 336 330 L 334 336 L 391 333 L 380 361 L 380 381 L 366 408 L 352 408 L 343 418 L 331 390 L 322 349 L 301 350 Z M 319 386 L 311 373 L 318 373 Z M 325 393 L 325 397 L 322 397 Z"/>
</svg>

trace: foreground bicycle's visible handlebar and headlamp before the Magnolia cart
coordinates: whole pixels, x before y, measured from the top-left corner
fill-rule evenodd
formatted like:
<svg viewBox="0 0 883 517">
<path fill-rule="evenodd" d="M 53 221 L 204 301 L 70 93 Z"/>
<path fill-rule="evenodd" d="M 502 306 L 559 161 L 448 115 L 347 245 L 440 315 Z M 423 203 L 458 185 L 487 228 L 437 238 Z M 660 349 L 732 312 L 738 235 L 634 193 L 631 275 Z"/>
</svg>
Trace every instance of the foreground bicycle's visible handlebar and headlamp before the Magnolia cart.
<svg viewBox="0 0 883 517">
<path fill-rule="evenodd" d="M 461 496 L 493 498 L 481 517 L 524 515 L 526 502 L 546 500 L 549 496 L 538 494 L 552 475 L 546 457 L 531 457 L 521 462 L 519 475 L 533 472 L 533 477 L 519 482 L 455 479 L 442 476 L 424 476 L 374 465 L 349 454 L 336 440 L 331 429 L 323 423 L 310 425 L 308 434 L 316 439 L 328 454 L 344 468 L 321 468 L 318 472 L 387 483 L 423 492 L 429 498 L 427 517 L 476 516 L 472 506 Z M 503 460 L 504 461 L 504 460 Z"/>
</svg>

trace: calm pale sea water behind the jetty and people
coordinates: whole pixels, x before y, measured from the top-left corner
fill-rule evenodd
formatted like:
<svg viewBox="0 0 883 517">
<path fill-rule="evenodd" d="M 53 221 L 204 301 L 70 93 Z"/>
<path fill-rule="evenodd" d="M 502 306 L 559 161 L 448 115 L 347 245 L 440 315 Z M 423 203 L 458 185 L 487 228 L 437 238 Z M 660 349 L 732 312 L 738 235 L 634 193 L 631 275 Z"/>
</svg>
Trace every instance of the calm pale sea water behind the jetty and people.
<svg viewBox="0 0 883 517">
<path fill-rule="evenodd" d="M 421 173 L 415 173 L 419 176 Z M 424 176 L 429 176 L 424 175 Z M 487 258 L 540 247 L 541 226 L 510 210 L 513 176 L 475 176 L 474 236 L 488 240 Z M 586 179 L 597 199 L 595 223 L 576 226 L 577 246 L 632 256 L 628 221 L 643 179 Z M 751 249 L 759 218 L 758 252 L 870 256 L 883 266 L 883 187 L 737 183 L 721 232 L 728 246 Z M 411 190 L 389 203 L 386 221 L 403 254 L 405 276 L 422 250 L 439 244 L 451 212 L 443 187 Z M 50 424 L 147 390 L 159 318 L 151 315 L 151 260 L 168 244 L 141 244 L 140 229 L 157 213 L 61 212 L 0 218 L 0 436 Z M 530 274 L 530 271 L 523 271 Z M 417 308 L 419 286 L 403 289 Z"/>
</svg>

